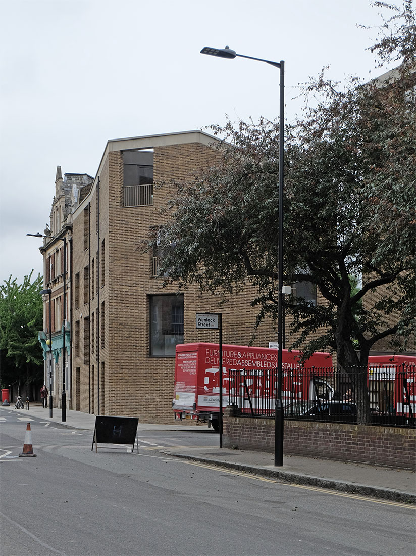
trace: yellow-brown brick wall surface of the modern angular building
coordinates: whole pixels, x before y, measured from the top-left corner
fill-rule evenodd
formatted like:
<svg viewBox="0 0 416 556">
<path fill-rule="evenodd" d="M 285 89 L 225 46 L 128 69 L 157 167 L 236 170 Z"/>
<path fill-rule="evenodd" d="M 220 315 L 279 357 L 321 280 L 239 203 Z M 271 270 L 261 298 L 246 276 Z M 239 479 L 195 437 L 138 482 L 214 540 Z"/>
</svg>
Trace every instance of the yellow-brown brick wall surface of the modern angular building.
<svg viewBox="0 0 416 556">
<path fill-rule="evenodd" d="M 154 181 L 189 179 L 193 173 L 209 167 L 217 152 L 199 143 L 162 146 L 154 148 Z M 80 384 L 75 384 L 78 373 L 73 373 L 73 392 L 81 393 L 77 409 L 98 411 L 107 415 L 139 416 L 144 422 L 167 423 L 173 420 L 171 409 L 173 397 L 174 358 L 149 356 L 149 295 L 174 293 L 175 286 L 162 288 L 161 279 L 151 275 L 151 254 L 143 253 L 141 241 L 146 239 L 151 226 L 161 223 L 159 209 L 171 194 L 167 183 L 154 189 L 154 205 L 143 207 L 123 206 L 123 155 L 120 151 L 109 152 L 100 176 L 100 243 L 106 241 L 106 267 L 104 285 L 94 287 L 94 297 L 73 311 L 73 322 L 80 321 L 80 353 L 73 358 L 73 369 L 79 368 Z M 73 274 L 80 272 L 94 259 L 94 276 L 97 280 L 97 187 L 89 197 L 90 237 L 89 250 L 83 249 L 83 214 L 74 218 L 73 226 Z M 101 260 L 101 254 L 100 254 Z M 90 266 L 91 269 L 91 266 Z M 99 295 L 98 295 L 99 294 Z M 223 313 L 223 341 L 229 344 L 247 345 L 254 333 L 257 310 L 250 307 L 254 289 L 232 297 L 225 307 L 219 306 L 219 296 L 199 295 L 196 288 L 184 291 L 184 341 L 218 342 L 217 331 L 197 331 L 196 312 Z M 90 345 L 88 364 L 84 363 L 85 316 L 94 312 L 97 325 L 98 296 L 100 305 L 105 304 L 104 347 L 99 349 L 97 360 L 97 332 L 94 353 Z M 81 317 L 81 314 L 83 315 Z M 262 325 L 256 331 L 256 345 L 267 346 L 276 335 L 270 325 Z M 104 364 L 104 376 L 102 366 Z M 98 389 L 98 369 L 100 388 Z M 74 403 L 76 406 L 76 403 Z"/>
</svg>

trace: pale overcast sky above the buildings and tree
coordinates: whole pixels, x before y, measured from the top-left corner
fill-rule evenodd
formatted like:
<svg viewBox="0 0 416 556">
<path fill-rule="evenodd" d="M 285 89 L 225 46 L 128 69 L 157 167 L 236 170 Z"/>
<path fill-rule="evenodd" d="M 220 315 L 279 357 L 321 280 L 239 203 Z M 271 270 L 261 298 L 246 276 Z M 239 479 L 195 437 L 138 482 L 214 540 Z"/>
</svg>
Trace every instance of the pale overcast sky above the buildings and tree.
<svg viewBox="0 0 416 556">
<path fill-rule="evenodd" d="M 287 119 L 298 83 L 330 65 L 377 75 L 368 0 L 0 0 L 0 282 L 42 274 L 56 167 L 96 175 L 108 139 L 278 116 L 279 71 L 203 56 L 204 46 L 285 61 Z M 378 73 L 383 73 L 385 68 Z M 369 73 L 370 72 L 370 73 Z"/>
</svg>

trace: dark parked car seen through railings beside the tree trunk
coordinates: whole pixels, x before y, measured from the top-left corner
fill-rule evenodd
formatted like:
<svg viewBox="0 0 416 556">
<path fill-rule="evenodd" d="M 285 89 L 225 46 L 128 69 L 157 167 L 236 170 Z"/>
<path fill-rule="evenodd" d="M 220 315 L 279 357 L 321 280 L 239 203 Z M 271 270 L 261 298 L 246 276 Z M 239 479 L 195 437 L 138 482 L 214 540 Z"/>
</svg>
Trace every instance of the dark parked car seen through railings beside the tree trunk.
<svg viewBox="0 0 416 556">
<path fill-rule="evenodd" d="M 288 405 L 285 416 L 311 420 L 357 421 L 357 405 L 347 401 L 300 401 Z"/>
</svg>

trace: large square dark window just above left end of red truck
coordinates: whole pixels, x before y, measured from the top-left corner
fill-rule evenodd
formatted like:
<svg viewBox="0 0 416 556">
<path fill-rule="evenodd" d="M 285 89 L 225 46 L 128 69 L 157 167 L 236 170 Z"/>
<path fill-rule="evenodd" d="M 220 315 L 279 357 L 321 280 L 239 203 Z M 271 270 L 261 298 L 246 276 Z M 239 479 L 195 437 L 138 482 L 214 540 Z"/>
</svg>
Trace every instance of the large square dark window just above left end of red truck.
<svg viewBox="0 0 416 556">
<path fill-rule="evenodd" d="M 175 355 L 177 344 L 183 344 L 183 295 L 152 295 L 151 355 Z"/>
</svg>

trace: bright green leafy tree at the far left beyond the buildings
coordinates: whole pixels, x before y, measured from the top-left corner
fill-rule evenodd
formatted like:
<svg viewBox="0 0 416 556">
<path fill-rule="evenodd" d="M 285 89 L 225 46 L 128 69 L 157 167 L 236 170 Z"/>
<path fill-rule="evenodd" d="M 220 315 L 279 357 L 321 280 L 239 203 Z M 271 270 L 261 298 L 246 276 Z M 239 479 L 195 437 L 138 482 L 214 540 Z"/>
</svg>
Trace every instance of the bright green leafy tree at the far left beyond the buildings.
<svg viewBox="0 0 416 556">
<path fill-rule="evenodd" d="M 12 276 L 0 285 L 0 357 L 2 385 L 36 383 L 42 380 L 43 355 L 38 340 L 42 330 L 42 277 L 22 284 Z"/>
</svg>

